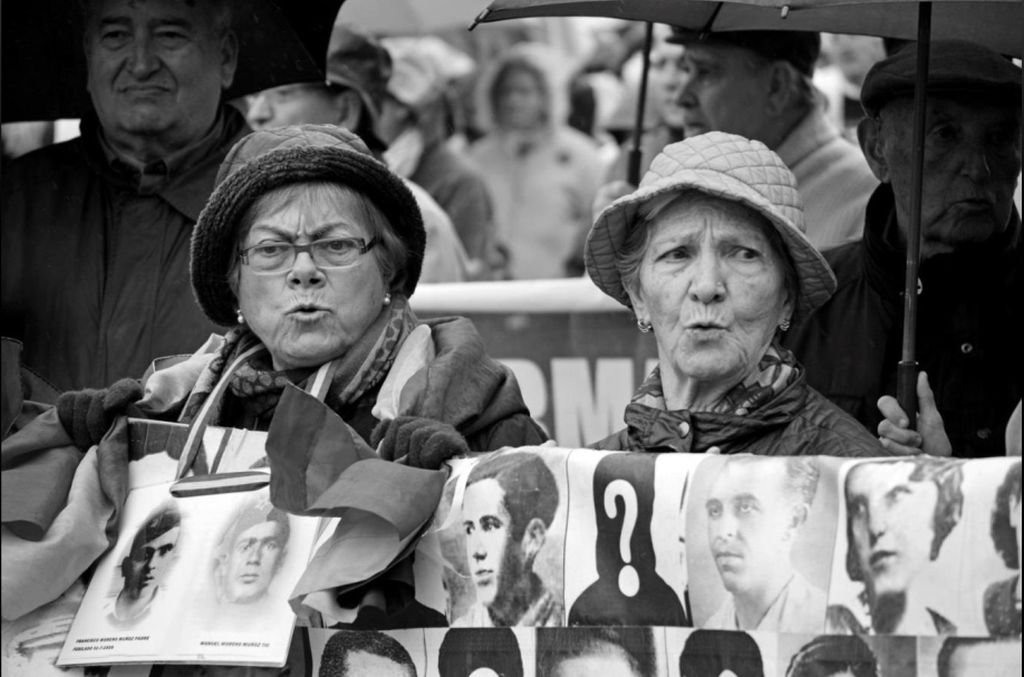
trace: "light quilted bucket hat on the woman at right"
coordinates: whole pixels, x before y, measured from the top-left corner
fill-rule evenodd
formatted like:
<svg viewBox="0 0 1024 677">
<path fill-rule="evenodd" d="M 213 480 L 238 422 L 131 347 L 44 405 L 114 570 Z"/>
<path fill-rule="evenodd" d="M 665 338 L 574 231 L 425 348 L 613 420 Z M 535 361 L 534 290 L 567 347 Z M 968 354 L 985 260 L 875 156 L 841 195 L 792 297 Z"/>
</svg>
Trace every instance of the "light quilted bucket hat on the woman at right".
<svg viewBox="0 0 1024 677">
<path fill-rule="evenodd" d="M 800 298 L 795 318 L 805 318 L 836 291 L 836 277 L 804 235 L 804 207 L 797 180 L 777 155 L 760 141 L 709 132 L 665 146 L 640 186 L 608 205 L 587 237 L 584 260 L 598 289 L 627 307 L 630 297 L 615 267 L 615 253 L 648 201 L 697 191 L 744 205 L 775 226 L 797 267 Z"/>
</svg>

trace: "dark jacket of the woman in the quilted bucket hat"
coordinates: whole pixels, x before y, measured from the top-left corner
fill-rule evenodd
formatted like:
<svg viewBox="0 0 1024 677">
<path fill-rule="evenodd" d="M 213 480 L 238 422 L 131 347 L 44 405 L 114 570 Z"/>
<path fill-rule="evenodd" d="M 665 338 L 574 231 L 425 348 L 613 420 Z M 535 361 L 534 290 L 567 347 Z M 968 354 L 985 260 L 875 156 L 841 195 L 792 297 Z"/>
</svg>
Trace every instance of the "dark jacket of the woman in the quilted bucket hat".
<svg viewBox="0 0 1024 677">
<path fill-rule="evenodd" d="M 877 437 L 807 387 L 804 376 L 746 416 L 626 407 L 627 427 L 593 449 L 760 456 L 888 456 Z"/>
</svg>

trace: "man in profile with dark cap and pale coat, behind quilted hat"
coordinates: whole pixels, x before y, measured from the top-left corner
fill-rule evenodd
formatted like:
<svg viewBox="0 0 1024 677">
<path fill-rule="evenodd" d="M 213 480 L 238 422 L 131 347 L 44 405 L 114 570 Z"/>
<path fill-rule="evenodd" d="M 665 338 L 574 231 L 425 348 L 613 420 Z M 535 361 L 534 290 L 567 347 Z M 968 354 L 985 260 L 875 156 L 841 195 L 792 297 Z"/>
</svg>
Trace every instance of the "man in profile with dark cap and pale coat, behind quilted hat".
<svg viewBox="0 0 1024 677">
<path fill-rule="evenodd" d="M 823 249 L 859 238 L 878 181 L 811 83 L 820 35 L 677 29 L 671 40 L 686 47 L 679 94 L 686 136 L 723 131 L 761 141 L 797 177 L 811 244 Z"/>
</svg>

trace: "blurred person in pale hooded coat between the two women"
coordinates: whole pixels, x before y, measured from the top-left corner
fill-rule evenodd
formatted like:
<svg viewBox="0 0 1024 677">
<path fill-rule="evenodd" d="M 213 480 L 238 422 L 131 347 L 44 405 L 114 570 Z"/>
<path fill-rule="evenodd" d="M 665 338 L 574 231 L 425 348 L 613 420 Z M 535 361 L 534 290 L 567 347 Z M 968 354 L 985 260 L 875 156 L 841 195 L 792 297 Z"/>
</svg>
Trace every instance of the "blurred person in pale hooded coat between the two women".
<svg viewBox="0 0 1024 677">
<path fill-rule="evenodd" d="M 603 173 L 594 140 L 565 123 L 558 58 L 544 45 L 516 45 L 477 85 L 478 125 L 486 134 L 468 153 L 495 200 L 511 278 L 567 274 Z"/>
</svg>

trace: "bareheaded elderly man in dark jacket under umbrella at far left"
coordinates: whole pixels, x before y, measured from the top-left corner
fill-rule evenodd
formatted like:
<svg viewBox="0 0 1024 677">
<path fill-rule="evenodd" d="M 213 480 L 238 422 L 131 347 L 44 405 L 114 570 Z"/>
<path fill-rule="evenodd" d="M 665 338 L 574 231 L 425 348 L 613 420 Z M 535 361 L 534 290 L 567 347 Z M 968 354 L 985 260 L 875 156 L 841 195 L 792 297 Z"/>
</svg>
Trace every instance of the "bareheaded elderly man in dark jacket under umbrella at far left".
<svg viewBox="0 0 1024 677">
<path fill-rule="evenodd" d="M 189 242 L 248 131 L 221 102 L 239 51 L 226 2 L 85 5 L 82 136 L 19 158 L 3 181 L 3 333 L 60 389 L 141 374 L 213 331 Z"/>
</svg>

